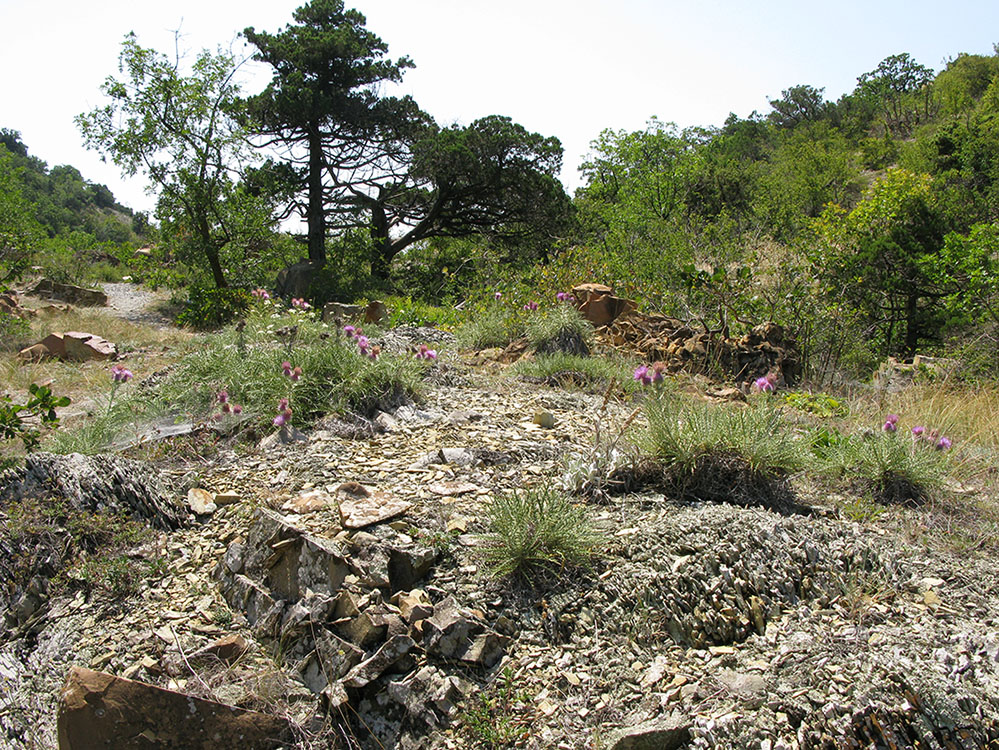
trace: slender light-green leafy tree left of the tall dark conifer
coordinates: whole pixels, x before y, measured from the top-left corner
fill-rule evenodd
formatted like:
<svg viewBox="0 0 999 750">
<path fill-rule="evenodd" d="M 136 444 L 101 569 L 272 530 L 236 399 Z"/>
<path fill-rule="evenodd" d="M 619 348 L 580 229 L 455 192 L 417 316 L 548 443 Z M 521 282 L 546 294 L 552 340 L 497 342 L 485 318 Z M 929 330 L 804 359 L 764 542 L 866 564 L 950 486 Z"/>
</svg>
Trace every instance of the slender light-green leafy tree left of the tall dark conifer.
<svg viewBox="0 0 999 750">
<path fill-rule="evenodd" d="M 126 175 L 146 175 L 159 191 L 160 218 L 207 263 L 217 287 L 227 286 L 220 252 L 244 216 L 224 208 L 235 200 L 235 174 L 246 156 L 238 68 L 231 54 L 203 51 L 184 75 L 180 60 L 140 47 L 129 34 L 119 57 L 122 77 L 101 87 L 111 102 L 76 118 L 88 148 Z"/>
</svg>

